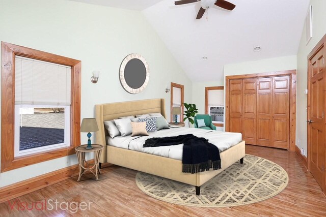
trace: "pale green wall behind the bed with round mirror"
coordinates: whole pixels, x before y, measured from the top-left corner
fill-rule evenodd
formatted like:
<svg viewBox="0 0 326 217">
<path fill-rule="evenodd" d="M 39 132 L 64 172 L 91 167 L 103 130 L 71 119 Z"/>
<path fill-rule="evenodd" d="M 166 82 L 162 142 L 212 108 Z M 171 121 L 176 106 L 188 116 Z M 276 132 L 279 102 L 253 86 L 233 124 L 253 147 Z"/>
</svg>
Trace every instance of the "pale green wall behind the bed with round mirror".
<svg viewBox="0 0 326 217">
<path fill-rule="evenodd" d="M 82 118 L 94 117 L 94 105 L 165 98 L 170 117 L 170 82 L 184 85 L 192 100 L 192 83 L 139 11 L 65 0 L 0 0 L 0 41 L 82 60 Z M 130 53 L 148 61 L 150 79 L 138 95 L 120 85 L 119 67 Z M 97 84 L 90 81 L 98 69 Z M 82 133 L 82 143 L 87 136 Z M 93 138 L 94 139 L 94 138 Z M 77 163 L 75 156 L 55 159 L 0 174 L 0 187 Z"/>
</svg>

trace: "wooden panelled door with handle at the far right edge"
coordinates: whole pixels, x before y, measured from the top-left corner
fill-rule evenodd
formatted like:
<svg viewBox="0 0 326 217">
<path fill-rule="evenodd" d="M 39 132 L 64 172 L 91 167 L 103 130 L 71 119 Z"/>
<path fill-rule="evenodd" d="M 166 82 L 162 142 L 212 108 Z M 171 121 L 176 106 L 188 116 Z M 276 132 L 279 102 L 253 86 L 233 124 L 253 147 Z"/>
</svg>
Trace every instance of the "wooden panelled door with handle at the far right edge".
<svg viewBox="0 0 326 217">
<path fill-rule="evenodd" d="M 308 168 L 325 191 L 325 49 L 309 59 Z"/>
</svg>

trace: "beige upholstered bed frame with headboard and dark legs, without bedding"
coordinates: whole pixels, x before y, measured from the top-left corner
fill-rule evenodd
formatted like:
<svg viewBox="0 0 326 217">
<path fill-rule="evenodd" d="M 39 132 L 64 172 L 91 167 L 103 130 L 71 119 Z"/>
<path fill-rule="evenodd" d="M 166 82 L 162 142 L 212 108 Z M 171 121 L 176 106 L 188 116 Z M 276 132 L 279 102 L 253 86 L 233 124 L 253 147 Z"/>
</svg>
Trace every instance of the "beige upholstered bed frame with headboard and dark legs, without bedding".
<svg viewBox="0 0 326 217">
<path fill-rule="evenodd" d="M 230 148 L 220 152 L 222 169 L 195 174 L 182 173 L 182 161 L 178 160 L 178 158 L 158 156 L 151 153 L 117 147 L 117 145 L 113 146 L 107 143 L 108 133 L 104 128 L 104 120 L 113 120 L 122 116 L 141 115 L 146 113 L 161 113 L 166 118 L 165 100 L 150 99 L 95 105 L 95 118 L 99 129 L 99 131 L 95 133 L 96 144 L 104 146 L 100 156 L 100 163 L 110 163 L 195 185 L 196 194 L 199 195 L 200 186 L 202 184 L 235 162 L 243 162 L 243 157 L 245 155 L 244 141 L 233 144 Z"/>
</svg>

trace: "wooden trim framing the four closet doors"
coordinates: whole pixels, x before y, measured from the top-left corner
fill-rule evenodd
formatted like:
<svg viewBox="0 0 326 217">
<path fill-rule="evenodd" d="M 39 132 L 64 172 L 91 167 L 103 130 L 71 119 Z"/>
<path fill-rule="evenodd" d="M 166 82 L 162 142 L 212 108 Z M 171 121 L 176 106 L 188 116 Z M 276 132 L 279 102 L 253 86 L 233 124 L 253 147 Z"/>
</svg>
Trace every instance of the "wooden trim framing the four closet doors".
<svg viewBox="0 0 326 217">
<path fill-rule="evenodd" d="M 295 151 L 295 128 L 296 128 L 296 70 L 286 70 L 278 72 L 265 72 L 247 75 L 230 75 L 225 78 L 225 131 L 230 130 L 230 99 L 229 99 L 229 85 L 231 79 L 245 79 L 245 78 L 261 78 L 261 77 L 277 77 L 290 76 L 290 151 Z"/>
</svg>

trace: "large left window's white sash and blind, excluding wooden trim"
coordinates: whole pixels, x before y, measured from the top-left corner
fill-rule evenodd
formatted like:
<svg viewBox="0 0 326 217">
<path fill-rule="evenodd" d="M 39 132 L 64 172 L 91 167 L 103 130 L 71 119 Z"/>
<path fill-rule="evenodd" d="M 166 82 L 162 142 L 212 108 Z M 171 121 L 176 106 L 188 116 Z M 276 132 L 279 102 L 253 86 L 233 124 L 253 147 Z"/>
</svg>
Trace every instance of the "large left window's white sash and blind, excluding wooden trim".
<svg viewBox="0 0 326 217">
<path fill-rule="evenodd" d="M 69 146 L 70 78 L 69 66 L 15 57 L 15 157 Z"/>
</svg>

